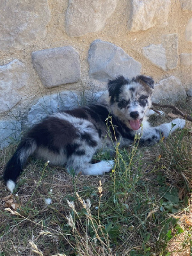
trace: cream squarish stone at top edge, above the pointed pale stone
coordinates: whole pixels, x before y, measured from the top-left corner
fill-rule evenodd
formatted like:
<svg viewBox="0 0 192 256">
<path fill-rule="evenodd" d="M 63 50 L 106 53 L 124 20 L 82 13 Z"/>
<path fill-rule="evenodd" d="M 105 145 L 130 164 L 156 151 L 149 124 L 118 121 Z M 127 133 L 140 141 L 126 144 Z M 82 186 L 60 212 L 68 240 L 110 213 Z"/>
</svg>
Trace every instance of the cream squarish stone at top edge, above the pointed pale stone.
<svg viewBox="0 0 192 256">
<path fill-rule="evenodd" d="M 135 32 L 167 26 L 170 3 L 170 0 L 132 0 L 127 22 L 129 30 Z"/>
</svg>

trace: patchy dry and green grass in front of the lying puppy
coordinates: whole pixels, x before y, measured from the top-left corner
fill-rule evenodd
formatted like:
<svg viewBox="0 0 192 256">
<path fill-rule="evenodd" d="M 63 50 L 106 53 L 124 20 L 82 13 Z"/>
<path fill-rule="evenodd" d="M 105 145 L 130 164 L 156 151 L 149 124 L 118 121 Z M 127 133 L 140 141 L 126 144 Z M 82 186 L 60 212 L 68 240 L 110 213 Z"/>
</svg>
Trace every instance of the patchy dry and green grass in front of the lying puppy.
<svg viewBox="0 0 192 256">
<path fill-rule="evenodd" d="M 101 177 L 29 159 L 12 197 L 0 180 L 0 255 L 191 255 L 191 145 L 185 129 L 116 148 L 115 170 Z M 1 173 L 15 147 L 1 150 Z"/>
</svg>

